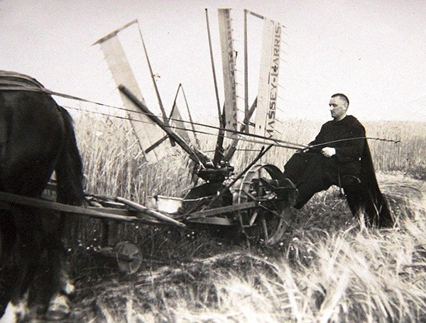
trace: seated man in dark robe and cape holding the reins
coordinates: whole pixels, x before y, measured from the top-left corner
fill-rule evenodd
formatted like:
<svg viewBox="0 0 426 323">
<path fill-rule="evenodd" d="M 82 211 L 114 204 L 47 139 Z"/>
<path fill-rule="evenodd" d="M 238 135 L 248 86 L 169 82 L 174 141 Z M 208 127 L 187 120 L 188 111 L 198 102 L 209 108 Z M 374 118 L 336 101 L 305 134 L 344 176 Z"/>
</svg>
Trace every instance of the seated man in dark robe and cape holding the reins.
<svg viewBox="0 0 426 323">
<path fill-rule="evenodd" d="M 294 207 L 300 209 L 316 192 L 337 185 L 343 190 L 352 214 L 364 212 L 370 226 L 393 226 L 386 199 L 377 184 L 364 126 L 346 114 L 346 95 L 334 94 L 329 106 L 333 120 L 322 125 L 308 148 L 295 153 L 284 166 L 284 177 L 298 191 Z"/>
</svg>

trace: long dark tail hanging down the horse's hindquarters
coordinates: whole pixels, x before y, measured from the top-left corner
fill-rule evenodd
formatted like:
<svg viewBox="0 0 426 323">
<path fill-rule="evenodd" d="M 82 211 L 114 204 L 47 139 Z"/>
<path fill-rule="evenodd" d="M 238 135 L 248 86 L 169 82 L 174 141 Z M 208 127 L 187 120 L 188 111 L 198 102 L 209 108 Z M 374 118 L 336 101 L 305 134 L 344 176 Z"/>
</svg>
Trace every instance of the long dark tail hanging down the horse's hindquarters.
<svg viewBox="0 0 426 323">
<path fill-rule="evenodd" d="M 81 205 L 84 200 L 83 165 L 75 140 L 72 117 L 59 106 L 65 124 L 65 142 L 55 167 L 58 202 Z"/>
</svg>

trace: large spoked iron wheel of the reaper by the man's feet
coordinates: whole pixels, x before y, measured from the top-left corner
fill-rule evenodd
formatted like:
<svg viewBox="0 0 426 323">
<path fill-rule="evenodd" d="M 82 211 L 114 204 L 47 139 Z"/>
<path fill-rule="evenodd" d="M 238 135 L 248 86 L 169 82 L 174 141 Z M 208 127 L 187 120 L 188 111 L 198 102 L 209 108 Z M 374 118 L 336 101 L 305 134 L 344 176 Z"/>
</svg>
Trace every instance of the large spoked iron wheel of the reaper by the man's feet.
<svg viewBox="0 0 426 323">
<path fill-rule="evenodd" d="M 254 165 L 242 178 L 234 204 L 256 201 L 259 207 L 237 212 L 242 231 L 249 239 L 268 246 L 278 243 L 288 229 L 291 199 L 296 190 L 278 190 L 282 173 L 275 165 Z"/>
</svg>

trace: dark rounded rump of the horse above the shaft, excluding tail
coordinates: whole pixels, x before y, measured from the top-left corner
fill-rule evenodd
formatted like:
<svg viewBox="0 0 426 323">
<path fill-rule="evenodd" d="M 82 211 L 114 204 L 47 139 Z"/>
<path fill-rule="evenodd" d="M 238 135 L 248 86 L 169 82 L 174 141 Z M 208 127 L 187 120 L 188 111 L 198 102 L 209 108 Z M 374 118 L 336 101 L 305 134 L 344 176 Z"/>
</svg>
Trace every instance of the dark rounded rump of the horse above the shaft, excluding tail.
<svg viewBox="0 0 426 323">
<path fill-rule="evenodd" d="M 1 75 L 3 81 L 18 80 L 16 75 Z M 25 88 L 36 87 L 29 79 L 20 80 Z M 43 191 L 41 186 L 53 172 L 64 145 L 64 122 L 50 95 L 15 88 L 0 90 L 1 190 L 23 195 Z"/>
</svg>

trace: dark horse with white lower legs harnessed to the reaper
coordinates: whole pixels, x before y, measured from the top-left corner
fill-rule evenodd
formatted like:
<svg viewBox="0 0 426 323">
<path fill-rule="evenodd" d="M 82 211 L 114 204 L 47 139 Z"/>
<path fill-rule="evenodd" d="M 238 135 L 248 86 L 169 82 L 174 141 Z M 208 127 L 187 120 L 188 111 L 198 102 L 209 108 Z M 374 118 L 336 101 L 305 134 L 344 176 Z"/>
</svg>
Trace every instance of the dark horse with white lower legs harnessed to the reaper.
<svg viewBox="0 0 426 323">
<path fill-rule="evenodd" d="M 58 202 L 81 205 L 82 160 L 70 114 L 39 82 L 26 75 L 0 71 L 0 191 L 39 198 L 55 171 Z M 1 208 L 1 204 L 0 204 Z M 73 292 L 65 270 L 62 215 L 18 203 L 0 209 L 1 269 L 6 291 L 0 322 L 25 314 L 28 290 L 46 251 L 51 292 L 46 316 L 70 313 Z"/>
</svg>

